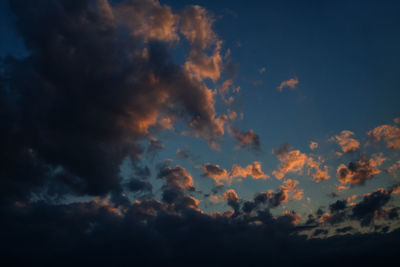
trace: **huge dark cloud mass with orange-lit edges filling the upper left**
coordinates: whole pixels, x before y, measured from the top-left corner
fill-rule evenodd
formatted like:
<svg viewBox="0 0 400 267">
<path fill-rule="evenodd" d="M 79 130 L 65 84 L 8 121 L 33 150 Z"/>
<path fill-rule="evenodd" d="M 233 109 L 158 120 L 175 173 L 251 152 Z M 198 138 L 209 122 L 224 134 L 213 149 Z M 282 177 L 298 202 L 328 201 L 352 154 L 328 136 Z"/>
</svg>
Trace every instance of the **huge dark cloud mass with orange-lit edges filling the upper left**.
<svg viewBox="0 0 400 267">
<path fill-rule="evenodd" d="M 137 160 L 138 141 L 162 119 L 181 118 L 209 142 L 223 133 L 211 91 L 172 61 L 177 15 L 169 7 L 150 0 L 115 8 L 102 0 L 17 0 L 10 7 L 29 56 L 2 60 L 1 198 L 43 186 L 52 194 L 120 190 L 121 163 Z M 150 30 L 137 31 L 144 26 Z"/>
</svg>

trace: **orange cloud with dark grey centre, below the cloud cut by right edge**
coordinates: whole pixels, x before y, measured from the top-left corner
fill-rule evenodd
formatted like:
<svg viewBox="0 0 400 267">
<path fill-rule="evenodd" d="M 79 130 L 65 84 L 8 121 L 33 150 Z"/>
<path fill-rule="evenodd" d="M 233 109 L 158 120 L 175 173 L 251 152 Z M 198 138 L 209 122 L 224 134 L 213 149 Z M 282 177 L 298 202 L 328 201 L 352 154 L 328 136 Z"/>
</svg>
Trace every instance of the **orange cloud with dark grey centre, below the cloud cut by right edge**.
<svg viewBox="0 0 400 267">
<path fill-rule="evenodd" d="M 381 173 L 378 167 L 383 161 L 385 161 L 385 158 L 381 154 L 375 154 L 371 158 L 364 155 L 358 161 L 350 162 L 347 166 L 339 165 L 336 176 L 342 184 L 363 185 L 365 181 Z"/>
</svg>

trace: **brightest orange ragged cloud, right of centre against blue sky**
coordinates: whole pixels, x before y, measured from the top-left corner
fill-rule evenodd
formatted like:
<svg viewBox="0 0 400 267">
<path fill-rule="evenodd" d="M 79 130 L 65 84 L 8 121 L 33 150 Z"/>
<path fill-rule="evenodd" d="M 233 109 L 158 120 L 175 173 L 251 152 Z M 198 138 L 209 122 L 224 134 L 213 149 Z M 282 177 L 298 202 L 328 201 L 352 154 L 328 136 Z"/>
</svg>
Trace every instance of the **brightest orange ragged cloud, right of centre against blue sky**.
<svg viewBox="0 0 400 267">
<path fill-rule="evenodd" d="M 272 172 L 277 179 L 284 178 L 290 172 L 302 174 L 305 168 L 308 169 L 308 175 L 311 175 L 311 170 L 313 170 L 312 177 L 317 183 L 330 178 L 328 166 L 321 168 L 322 159 L 316 161 L 311 156 L 301 153 L 300 150 L 291 150 L 288 144 L 281 145 L 278 150 L 274 151 L 274 154 L 281 162 L 278 169 Z"/>
</svg>

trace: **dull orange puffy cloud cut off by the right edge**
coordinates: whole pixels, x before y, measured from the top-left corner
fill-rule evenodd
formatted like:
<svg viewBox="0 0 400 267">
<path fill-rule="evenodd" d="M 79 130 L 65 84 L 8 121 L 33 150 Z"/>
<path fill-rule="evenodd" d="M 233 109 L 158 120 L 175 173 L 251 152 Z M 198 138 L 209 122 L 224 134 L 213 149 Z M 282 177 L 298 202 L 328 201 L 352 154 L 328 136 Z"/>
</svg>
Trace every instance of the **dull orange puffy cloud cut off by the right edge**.
<svg viewBox="0 0 400 267">
<path fill-rule="evenodd" d="M 392 125 L 381 125 L 368 132 L 374 141 L 383 141 L 388 148 L 400 149 L 400 129 Z"/>
</svg>

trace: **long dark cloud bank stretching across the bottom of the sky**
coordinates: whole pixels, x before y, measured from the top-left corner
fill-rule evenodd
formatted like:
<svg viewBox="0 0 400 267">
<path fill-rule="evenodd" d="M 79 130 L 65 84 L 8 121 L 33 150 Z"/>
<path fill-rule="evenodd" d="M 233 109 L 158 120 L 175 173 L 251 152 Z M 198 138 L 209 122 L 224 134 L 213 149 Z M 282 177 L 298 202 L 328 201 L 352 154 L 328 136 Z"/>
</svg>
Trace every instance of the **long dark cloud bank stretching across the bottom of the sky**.
<svg viewBox="0 0 400 267">
<path fill-rule="evenodd" d="M 157 201 L 135 203 L 124 216 L 99 201 L 13 207 L 2 214 L 2 260 L 41 266 L 263 266 L 266 260 L 280 266 L 373 266 L 397 258 L 399 231 L 306 240 L 268 211 L 258 214 L 262 224 L 252 224 L 167 209 Z"/>
</svg>

